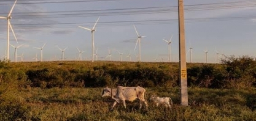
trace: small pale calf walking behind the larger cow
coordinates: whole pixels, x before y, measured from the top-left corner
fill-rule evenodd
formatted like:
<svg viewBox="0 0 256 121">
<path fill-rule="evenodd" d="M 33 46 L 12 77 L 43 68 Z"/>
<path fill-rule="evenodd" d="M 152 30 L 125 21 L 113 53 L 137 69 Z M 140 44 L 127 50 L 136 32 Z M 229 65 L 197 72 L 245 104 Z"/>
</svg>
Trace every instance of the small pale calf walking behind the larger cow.
<svg viewBox="0 0 256 121">
<path fill-rule="evenodd" d="M 152 100 L 156 105 L 158 106 L 159 104 L 164 104 L 165 107 L 169 107 L 171 109 L 171 105 L 173 105 L 173 101 L 171 100 L 170 97 L 157 97 L 156 95 L 152 95 L 150 97 L 150 100 Z M 171 102 L 171 105 L 170 105 Z"/>
</svg>

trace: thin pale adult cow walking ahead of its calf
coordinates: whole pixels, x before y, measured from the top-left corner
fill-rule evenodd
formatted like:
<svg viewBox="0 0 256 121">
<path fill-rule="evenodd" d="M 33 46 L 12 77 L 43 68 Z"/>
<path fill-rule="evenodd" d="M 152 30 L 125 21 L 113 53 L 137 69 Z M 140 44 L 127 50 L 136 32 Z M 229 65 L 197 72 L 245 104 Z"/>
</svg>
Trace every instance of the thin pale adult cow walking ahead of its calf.
<svg viewBox="0 0 256 121">
<path fill-rule="evenodd" d="M 134 101 L 137 98 L 139 99 L 139 109 L 142 107 L 142 103 L 145 103 L 145 108 L 147 109 L 147 101 L 145 100 L 145 89 L 142 87 L 122 87 L 122 86 L 117 86 L 117 89 L 111 89 L 111 88 L 104 88 L 102 97 L 110 96 L 112 99 L 115 100 L 112 108 L 117 103 L 120 103 L 122 101 L 123 106 L 125 106 L 125 100 L 128 101 Z"/>
</svg>

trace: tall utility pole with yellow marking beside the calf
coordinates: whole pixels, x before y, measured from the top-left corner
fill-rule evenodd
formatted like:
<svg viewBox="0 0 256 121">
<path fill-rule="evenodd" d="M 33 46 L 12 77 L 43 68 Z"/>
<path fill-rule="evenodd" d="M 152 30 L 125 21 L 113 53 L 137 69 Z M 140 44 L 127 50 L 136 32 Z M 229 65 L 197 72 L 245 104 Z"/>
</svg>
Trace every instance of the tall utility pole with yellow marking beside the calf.
<svg viewBox="0 0 256 121">
<path fill-rule="evenodd" d="M 179 64 L 180 64 L 180 105 L 188 106 L 187 63 L 185 52 L 184 4 L 178 0 L 179 8 Z"/>
</svg>

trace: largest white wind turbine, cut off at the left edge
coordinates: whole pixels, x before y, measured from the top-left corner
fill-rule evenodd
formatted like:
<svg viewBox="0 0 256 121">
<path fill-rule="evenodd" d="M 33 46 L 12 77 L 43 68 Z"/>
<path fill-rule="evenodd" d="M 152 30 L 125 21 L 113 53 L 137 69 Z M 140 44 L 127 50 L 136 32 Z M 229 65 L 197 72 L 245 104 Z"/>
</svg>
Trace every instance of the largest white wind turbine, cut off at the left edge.
<svg viewBox="0 0 256 121">
<path fill-rule="evenodd" d="M 12 9 L 10 9 L 10 12 L 9 12 L 8 16 L 0 16 L 0 19 L 1 18 L 2 19 L 7 19 L 7 48 L 6 48 L 6 50 L 7 50 L 6 59 L 7 60 L 9 60 L 9 37 L 10 37 L 9 32 L 10 32 L 10 29 L 12 30 L 12 34 L 14 34 L 15 40 L 18 43 L 16 35 L 14 33 L 14 29 L 12 29 L 12 24 L 10 24 L 10 19 L 12 19 L 12 16 L 10 16 L 10 15 L 12 15 L 12 10 L 14 10 L 14 6 L 15 6 L 16 2 L 17 2 L 17 0 L 14 2 L 14 5 L 12 5 Z"/>
</svg>

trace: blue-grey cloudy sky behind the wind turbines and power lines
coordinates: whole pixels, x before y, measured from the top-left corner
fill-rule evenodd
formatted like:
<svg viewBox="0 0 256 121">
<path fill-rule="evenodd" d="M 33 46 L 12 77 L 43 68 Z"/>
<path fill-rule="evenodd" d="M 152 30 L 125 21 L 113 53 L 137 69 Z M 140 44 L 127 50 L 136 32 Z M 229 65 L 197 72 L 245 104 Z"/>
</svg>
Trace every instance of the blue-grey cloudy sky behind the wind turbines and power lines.
<svg viewBox="0 0 256 121">
<path fill-rule="evenodd" d="M 15 0 L 0 1 L 0 16 L 7 16 Z M 171 62 L 179 62 L 179 28 L 177 2 L 168 0 L 18 0 L 10 23 L 18 43 L 10 31 L 10 44 L 18 46 L 17 55 L 23 61 L 41 58 L 50 61 L 77 60 L 80 51 L 83 60 L 91 60 L 91 32 L 93 28 L 95 53 L 98 60 L 137 61 L 139 35 L 142 62 L 168 62 L 168 43 L 171 37 Z M 255 57 L 256 1 L 250 0 L 184 0 L 185 41 L 187 62 L 219 62 L 220 58 L 234 55 Z M 0 19 L 0 57 L 6 53 L 7 20 Z M 14 61 L 14 48 L 10 46 L 10 60 Z M 219 54 L 216 54 L 219 53 Z M 218 57 L 218 58 L 217 58 Z M 20 61 L 18 57 L 18 61 Z M 217 60 L 218 59 L 218 60 Z M 96 60 L 96 58 L 95 58 Z"/>
</svg>

